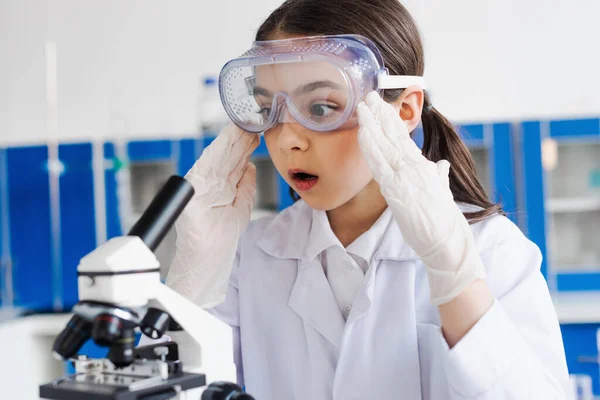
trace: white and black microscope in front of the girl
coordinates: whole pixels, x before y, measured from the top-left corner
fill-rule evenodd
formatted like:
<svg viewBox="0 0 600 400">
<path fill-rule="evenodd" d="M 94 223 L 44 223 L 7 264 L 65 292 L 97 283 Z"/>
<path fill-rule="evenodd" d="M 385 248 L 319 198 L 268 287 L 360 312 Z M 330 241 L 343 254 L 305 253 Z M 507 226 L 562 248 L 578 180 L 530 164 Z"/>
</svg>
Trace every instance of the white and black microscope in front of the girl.
<svg viewBox="0 0 600 400">
<path fill-rule="evenodd" d="M 171 176 L 126 236 L 81 259 L 79 302 L 53 346 L 75 373 L 41 385 L 40 398 L 183 400 L 201 393 L 202 400 L 253 400 L 230 383 L 236 379 L 231 328 L 160 280 L 154 250 L 193 194 L 189 182 Z M 136 347 L 138 329 L 153 343 Z M 185 345 L 161 342 L 166 333 Z M 90 339 L 108 348 L 106 358 L 77 354 Z M 182 358 L 193 362 L 184 365 Z"/>
</svg>

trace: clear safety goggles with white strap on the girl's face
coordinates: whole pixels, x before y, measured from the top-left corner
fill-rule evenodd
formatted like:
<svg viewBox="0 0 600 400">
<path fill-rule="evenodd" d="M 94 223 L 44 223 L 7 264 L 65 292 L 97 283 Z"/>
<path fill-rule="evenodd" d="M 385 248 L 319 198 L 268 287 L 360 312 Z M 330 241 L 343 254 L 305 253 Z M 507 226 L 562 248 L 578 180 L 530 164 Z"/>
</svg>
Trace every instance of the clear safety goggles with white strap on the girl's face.
<svg viewBox="0 0 600 400">
<path fill-rule="evenodd" d="M 225 111 L 253 133 L 286 122 L 319 132 L 352 128 L 367 93 L 412 85 L 425 89 L 425 80 L 389 75 L 375 44 L 359 35 L 257 41 L 219 75 Z"/>
</svg>

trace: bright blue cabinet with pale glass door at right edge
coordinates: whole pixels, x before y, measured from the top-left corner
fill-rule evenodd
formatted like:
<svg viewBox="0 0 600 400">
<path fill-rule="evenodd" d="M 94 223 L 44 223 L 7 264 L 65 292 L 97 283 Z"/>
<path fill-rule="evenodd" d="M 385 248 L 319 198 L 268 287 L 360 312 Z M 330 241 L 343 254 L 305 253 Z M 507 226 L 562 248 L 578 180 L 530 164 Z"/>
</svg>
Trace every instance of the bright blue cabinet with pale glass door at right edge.
<svg viewBox="0 0 600 400">
<path fill-rule="evenodd" d="M 552 291 L 600 289 L 600 119 L 521 124 L 523 228 Z"/>
</svg>

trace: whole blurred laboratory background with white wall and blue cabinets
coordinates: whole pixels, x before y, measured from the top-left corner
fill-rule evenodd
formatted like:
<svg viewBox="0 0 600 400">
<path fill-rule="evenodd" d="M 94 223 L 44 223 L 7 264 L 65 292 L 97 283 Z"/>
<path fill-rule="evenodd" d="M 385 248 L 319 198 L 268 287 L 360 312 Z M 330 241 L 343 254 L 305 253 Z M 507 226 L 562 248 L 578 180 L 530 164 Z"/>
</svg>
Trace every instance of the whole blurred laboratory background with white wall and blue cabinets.
<svg viewBox="0 0 600 400">
<path fill-rule="evenodd" d="M 220 68 L 280 3 L 0 0 L 0 349 L 27 365 L 0 364 L 3 379 L 35 396 L 62 373 L 47 356 L 79 259 L 127 232 L 227 122 Z M 402 3 L 434 105 L 540 247 L 570 372 L 600 395 L 600 2 Z M 253 216 L 289 206 L 264 144 L 254 159 Z M 173 250 L 171 233 L 163 276 Z"/>
</svg>

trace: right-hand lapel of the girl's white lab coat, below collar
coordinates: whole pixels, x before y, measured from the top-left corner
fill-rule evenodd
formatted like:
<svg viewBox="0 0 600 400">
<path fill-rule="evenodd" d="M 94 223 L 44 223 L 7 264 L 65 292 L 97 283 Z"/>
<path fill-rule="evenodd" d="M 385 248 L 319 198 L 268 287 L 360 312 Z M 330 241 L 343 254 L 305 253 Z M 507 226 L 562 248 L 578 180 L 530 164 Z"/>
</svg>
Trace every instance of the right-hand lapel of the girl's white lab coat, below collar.
<svg viewBox="0 0 600 400">
<path fill-rule="evenodd" d="M 334 379 L 336 399 L 372 398 L 373 387 L 385 387 L 390 381 L 400 389 L 397 398 L 422 398 L 416 263 L 386 259 L 378 264 L 365 290 L 357 295 L 348 318 Z M 396 374 L 398 371 L 401 373 Z"/>
</svg>

